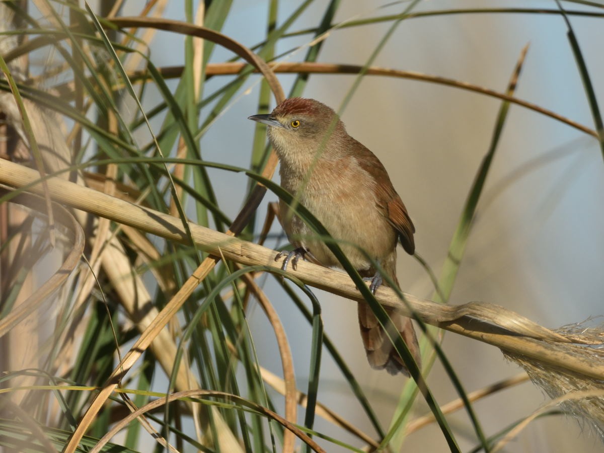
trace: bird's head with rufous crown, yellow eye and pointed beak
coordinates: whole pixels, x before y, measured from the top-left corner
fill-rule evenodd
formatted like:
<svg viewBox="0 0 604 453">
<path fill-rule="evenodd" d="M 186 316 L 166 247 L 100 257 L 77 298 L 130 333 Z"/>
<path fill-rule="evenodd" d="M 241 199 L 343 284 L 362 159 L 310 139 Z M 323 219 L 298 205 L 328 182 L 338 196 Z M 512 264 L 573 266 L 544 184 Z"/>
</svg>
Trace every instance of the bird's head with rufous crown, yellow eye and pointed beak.
<svg viewBox="0 0 604 453">
<path fill-rule="evenodd" d="M 269 126 L 269 140 L 281 158 L 301 153 L 312 156 L 321 147 L 321 154 L 329 158 L 341 149 L 332 145 L 347 136 L 344 124 L 333 109 L 313 99 L 289 98 L 268 115 L 248 118 Z"/>
</svg>

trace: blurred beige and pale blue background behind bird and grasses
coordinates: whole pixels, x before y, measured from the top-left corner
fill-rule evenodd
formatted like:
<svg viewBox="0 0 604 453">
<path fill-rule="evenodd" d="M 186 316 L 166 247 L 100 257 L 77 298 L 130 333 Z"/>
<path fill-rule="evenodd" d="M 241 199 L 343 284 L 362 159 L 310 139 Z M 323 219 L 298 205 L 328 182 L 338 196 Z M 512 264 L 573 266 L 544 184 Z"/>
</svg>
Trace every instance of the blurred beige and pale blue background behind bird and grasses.
<svg viewBox="0 0 604 453">
<path fill-rule="evenodd" d="M 211 4 L 212 2 L 206 2 Z M 269 1 L 235 0 L 230 7 L 223 34 L 253 48 L 262 43 L 268 27 Z M 278 2 L 277 26 L 291 18 L 303 4 L 308 7 L 289 30 L 316 27 L 329 4 Z M 555 13 L 498 13 L 495 8 L 544 8 L 557 10 L 554 2 L 423 1 L 423 2 L 335 2 L 334 24 L 422 11 L 456 11 L 400 21 L 384 40 L 393 21 L 335 29 L 329 32 L 319 62 L 364 65 L 383 43 L 372 66 L 417 71 L 455 79 L 505 92 L 522 48 L 528 53 L 518 79 L 515 97 L 570 118 L 594 129 L 594 119 L 567 36 L 567 25 Z M 99 11 L 98 4 L 91 3 Z M 599 4 L 562 2 L 569 11 L 604 13 Z M 199 5 L 193 2 L 193 10 Z M 492 8 L 479 13 L 471 8 Z M 138 2 L 124 2 L 121 15 L 140 14 Z M 181 2 L 167 2 L 164 18 L 185 20 Z M 568 16 L 594 84 L 597 100 L 604 97 L 601 43 L 602 18 Z M 312 34 L 295 34 L 278 40 L 278 61 L 303 61 Z M 156 66 L 182 65 L 184 37 L 158 31 L 149 42 L 150 59 Z M 233 54 L 217 46 L 210 62 L 223 62 Z M 205 93 L 225 85 L 228 78 L 216 76 L 205 84 Z M 278 74 L 288 93 L 294 74 Z M 339 110 L 355 84 L 355 75 L 313 74 L 304 97 L 316 98 Z M 175 89 L 178 80 L 167 80 Z M 149 91 L 144 108 L 159 101 Z M 204 159 L 246 166 L 249 162 L 256 124 L 246 118 L 258 112 L 260 76 L 251 76 L 201 138 Z M 274 107 L 274 98 L 271 106 Z M 213 108 L 210 103 L 201 116 Z M 471 91 L 394 77 L 365 76 L 341 111 L 347 130 L 371 149 L 390 174 L 416 225 L 417 252 L 435 274 L 446 260 L 449 243 L 464 207 L 467 194 L 484 155 L 489 150 L 501 100 Z M 135 111 L 132 103 L 126 112 Z M 153 127 L 162 117 L 153 118 Z M 596 138 L 538 112 L 512 104 L 498 143 L 495 159 L 478 205 L 466 252 L 451 295 L 452 304 L 484 301 L 527 316 L 545 327 L 580 323 L 604 313 L 604 177 L 603 155 Z M 245 175 L 208 170 L 216 198 L 231 218 L 242 207 L 249 181 Z M 275 181 L 278 181 L 275 173 Z M 262 224 L 266 204 L 276 201 L 270 192 L 259 210 Z M 334 207 L 337 209 L 337 207 Z M 193 215 L 189 204 L 187 213 Z M 283 246 L 286 239 L 274 223 L 268 246 Z M 147 276 L 149 278 L 149 276 Z M 429 298 L 434 287 L 413 257 L 399 252 L 398 278 L 403 291 Z M 274 303 L 291 342 L 298 387 L 306 388 L 312 330 L 274 278 L 260 282 Z M 357 327 L 355 303 L 313 290 L 321 302 L 324 328 L 349 363 L 373 403 L 377 416 L 388 426 L 397 406 L 403 377 L 371 370 L 365 359 Z M 280 373 L 277 345 L 271 326 L 252 300 L 247 313 L 259 362 Z M 601 322 L 601 321 L 597 321 Z M 478 390 L 522 372 L 495 347 L 446 333 L 443 349 L 467 392 Z M 165 390 L 167 380 L 155 387 Z M 437 361 L 428 384 L 439 403 L 457 398 L 449 377 Z M 276 402 L 282 399 L 272 394 Z M 371 426 L 358 401 L 345 384 L 341 371 L 324 353 L 318 399 L 371 435 Z M 530 381 L 485 397 L 475 410 L 487 435 L 528 416 L 548 397 Z M 429 413 L 419 398 L 413 415 Z M 465 411 L 447 417 L 462 451 L 477 445 Z M 303 422 L 300 411 L 299 422 Z M 352 435 L 318 418 L 315 429 L 343 442 L 359 445 Z M 327 451 L 347 451 L 319 441 Z M 361 446 L 361 445 L 359 445 Z M 440 429 L 431 425 L 410 435 L 403 451 L 448 451 Z M 535 420 L 507 445 L 510 452 L 602 451 L 602 443 L 589 426 L 565 416 Z"/>
</svg>

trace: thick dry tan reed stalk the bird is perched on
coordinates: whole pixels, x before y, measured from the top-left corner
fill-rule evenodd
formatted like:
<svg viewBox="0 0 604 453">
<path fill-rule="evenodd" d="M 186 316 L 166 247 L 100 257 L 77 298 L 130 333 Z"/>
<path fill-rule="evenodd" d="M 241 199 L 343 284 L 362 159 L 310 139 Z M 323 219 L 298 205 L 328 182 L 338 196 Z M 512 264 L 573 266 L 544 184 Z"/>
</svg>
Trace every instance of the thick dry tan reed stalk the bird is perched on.
<svg viewBox="0 0 604 453">
<path fill-rule="evenodd" d="M 30 191 L 42 190 L 37 172 L 13 162 L 0 161 L 0 181 L 15 188 L 27 185 Z M 51 197 L 58 202 L 168 240 L 187 241 L 180 219 L 58 178 L 49 178 L 47 184 Z M 223 255 L 225 259 L 243 265 L 263 265 L 266 266 L 267 271 L 279 268 L 279 263 L 274 261 L 275 252 L 271 249 L 192 223 L 190 228 L 196 245 L 211 254 Z M 350 300 L 362 300 L 355 284 L 343 272 L 301 262 L 297 270 L 292 269 L 290 274 L 316 288 Z M 562 391 L 559 389 L 564 386 L 557 382 L 558 380 L 570 382 L 568 385 L 573 388 L 581 386 L 604 388 L 602 350 L 589 346 L 602 344 L 604 338 L 602 326 L 588 331 L 568 327 L 552 331 L 518 313 L 492 304 L 467 303 L 461 306 L 449 306 L 411 294 L 403 293 L 403 296 L 404 303 L 391 289 L 381 288 L 377 293 L 377 300 L 384 306 L 400 310 L 405 315 L 418 316 L 425 323 L 495 345 L 506 356 L 525 367 L 529 374 L 536 376 L 534 382 L 547 392 L 557 394 L 557 391 Z M 540 377 L 542 373 L 539 373 L 539 370 L 545 374 L 550 373 L 553 377 L 545 381 Z M 593 407 L 595 413 L 584 410 L 574 412 L 582 414 L 590 422 L 600 426 L 604 413 L 603 399 L 601 396 L 594 396 L 594 398 L 597 403 L 594 404 L 594 401 L 590 400 L 588 405 Z"/>
</svg>

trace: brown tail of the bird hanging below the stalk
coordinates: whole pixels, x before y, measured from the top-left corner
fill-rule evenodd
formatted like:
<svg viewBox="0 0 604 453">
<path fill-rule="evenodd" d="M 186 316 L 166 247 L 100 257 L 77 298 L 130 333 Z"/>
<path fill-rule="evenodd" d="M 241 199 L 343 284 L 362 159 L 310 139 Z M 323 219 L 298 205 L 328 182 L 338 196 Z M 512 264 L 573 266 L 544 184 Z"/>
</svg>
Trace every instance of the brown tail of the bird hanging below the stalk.
<svg viewBox="0 0 604 453">
<path fill-rule="evenodd" d="M 392 321 L 389 323 L 392 332 L 390 332 L 390 338 L 388 338 L 388 335 L 384 332 L 384 328 L 377 321 L 376 316 L 367 303 L 359 302 L 358 309 L 361 337 L 365 346 L 365 352 L 367 353 L 367 360 L 372 368 L 376 370 L 383 370 L 385 368 L 390 374 L 403 373 L 409 376 L 409 371 L 390 341 L 390 338 L 396 338 L 395 335 L 397 335 L 397 332 L 394 329 L 400 332 L 417 365 L 421 366 L 419 344 L 417 343 L 417 336 L 410 318 L 402 316 L 391 308 L 384 307 Z"/>
</svg>

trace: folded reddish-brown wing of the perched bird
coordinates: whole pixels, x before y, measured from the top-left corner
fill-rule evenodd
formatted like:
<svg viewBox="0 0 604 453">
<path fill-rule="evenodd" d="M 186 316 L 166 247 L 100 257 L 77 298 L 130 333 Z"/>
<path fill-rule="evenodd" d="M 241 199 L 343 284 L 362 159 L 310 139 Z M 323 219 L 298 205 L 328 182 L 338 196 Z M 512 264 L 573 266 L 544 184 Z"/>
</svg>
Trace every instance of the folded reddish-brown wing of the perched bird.
<svg viewBox="0 0 604 453">
<path fill-rule="evenodd" d="M 415 242 L 413 240 L 415 226 L 413 226 L 413 222 L 411 222 L 405 205 L 400 199 L 399 194 L 394 190 L 394 186 L 392 185 L 390 177 L 388 176 L 384 165 L 382 165 L 382 162 L 380 162 L 376 155 L 368 150 L 367 147 L 360 143 L 359 145 L 361 146 L 356 147 L 356 149 L 362 150 L 357 158 L 359 165 L 365 172 L 373 176 L 376 181 L 382 182 L 382 184 L 376 184 L 374 189 L 377 207 L 396 229 L 403 249 L 405 249 L 408 254 L 413 255 L 415 252 Z"/>
</svg>

